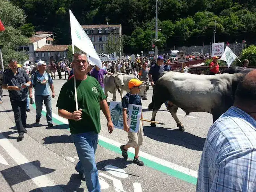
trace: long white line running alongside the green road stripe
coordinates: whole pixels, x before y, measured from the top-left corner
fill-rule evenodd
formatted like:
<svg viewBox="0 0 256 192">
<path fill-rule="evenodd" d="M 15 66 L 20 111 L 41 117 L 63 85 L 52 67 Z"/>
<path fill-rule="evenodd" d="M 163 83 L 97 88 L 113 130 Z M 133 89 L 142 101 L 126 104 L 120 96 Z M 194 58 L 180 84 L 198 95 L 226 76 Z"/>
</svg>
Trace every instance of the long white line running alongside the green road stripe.
<svg viewBox="0 0 256 192">
<path fill-rule="evenodd" d="M 43 110 L 46 112 L 46 109 L 45 109 L 44 107 L 43 107 Z M 53 115 L 54 115 L 54 113 L 53 113 Z M 55 116 L 56 116 L 55 118 L 56 118 L 57 120 L 63 122 L 64 124 L 68 124 L 68 120 L 63 119 L 63 118 L 61 118 L 61 117 L 59 117 L 59 116 L 57 116 L 57 115 L 55 115 Z M 109 139 L 109 138 L 107 138 L 107 137 L 104 137 L 104 136 L 102 136 L 102 135 L 99 135 L 99 139 L 102 140 L 102 141 L 105 141 L 106 143 L 109 143 L 109 144 L 111 144 L 111 145 L 114 145 L 114 146 L 116 146 L 116 147 L 118 147 L 118 148 L 122 145 L 121 143 L 119 143 L 119 142 L 117 142 L 117 141 L 114 141 L 114 140 L 112 140 L 112 139 Z M 130 148 L 130 149 L 128 149 L 128 150 L 129 150 L 129 152 L 135 154 L 133 149 Z M 164 159 L 155 157 L 155 156 L 153 156 L 153 155 L 147 154 L 147 153 L 142 152 L 142 151 L 140 151 L 140 156 L 141 156 L 141 157 L 144 157 L 144 158 L 146 158 L 146 159 L 148 159 L 148 160 L 150 160 L 150 161 L 153 161 L 153 162 L 155 162 L 155 163 L 161 164 L 161 165 L 163 165 L 163 166 L 172 168 L 172 169 L 174 169 L 174 170 L 176 170 L 176 171 L 180 171 L 180 172 L 182 172 L 182 173 L 185 173 L 185 174 L 187 174 L 187 175 L 190 175 L 190 176 L 193 176 L 193 177 L 196 177 L 196 178 L 197 178 L 197 171 L 194 171 L 194 170 L 191 170 L 191 169 L 189 169 L 189 168 L 186 168 L 186 167 L 177 165 L 177 164 L 175 164 L 175 163 L 166 161 L 166 160 L 164 160 Z"/>
</svg>

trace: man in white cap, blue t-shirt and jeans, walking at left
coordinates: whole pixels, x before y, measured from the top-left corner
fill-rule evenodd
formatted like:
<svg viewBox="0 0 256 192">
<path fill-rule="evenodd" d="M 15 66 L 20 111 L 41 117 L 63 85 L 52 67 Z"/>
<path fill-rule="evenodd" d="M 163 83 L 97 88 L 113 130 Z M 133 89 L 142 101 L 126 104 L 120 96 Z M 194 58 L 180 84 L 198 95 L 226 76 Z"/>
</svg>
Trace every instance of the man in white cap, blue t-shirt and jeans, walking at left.
<svg viewBox="0 0 256 192">
<path fill-rule="evenodd" d="M 48 127 L 52 127 L 52 98 L 55 97 L 55 91 L 53 86 L 52 77 L 45 71 L 46 63 L 44 61 L 39 61 L 38 71 L 35 71 L 31 75 L 31 84 L 35 88 L 35 102 L 36 102 L 36 123 L 38 124 L 41 118 L 43 101 L 46 107 L 46 120 Z M 52 97 L 50 93 L 52 90 Z M 29 97 L 32 98 L 32 86 L 29 88 Z"/>
</svg>

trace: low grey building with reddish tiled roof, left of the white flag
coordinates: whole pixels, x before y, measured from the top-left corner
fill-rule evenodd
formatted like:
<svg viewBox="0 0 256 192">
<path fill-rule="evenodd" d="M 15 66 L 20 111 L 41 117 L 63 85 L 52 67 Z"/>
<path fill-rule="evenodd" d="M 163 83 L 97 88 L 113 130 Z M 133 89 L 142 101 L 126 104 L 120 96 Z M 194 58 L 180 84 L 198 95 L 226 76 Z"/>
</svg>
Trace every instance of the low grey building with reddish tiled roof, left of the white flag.
<svg viewBox="0 0 256 192">
<path fill-rule="evenodd" d="M 42 60 L 47 64 L 51 61 L 61 61 L 67 57 L 69 45 L 44 45 L 35 51 L 36 61 Z"/>
</svg>

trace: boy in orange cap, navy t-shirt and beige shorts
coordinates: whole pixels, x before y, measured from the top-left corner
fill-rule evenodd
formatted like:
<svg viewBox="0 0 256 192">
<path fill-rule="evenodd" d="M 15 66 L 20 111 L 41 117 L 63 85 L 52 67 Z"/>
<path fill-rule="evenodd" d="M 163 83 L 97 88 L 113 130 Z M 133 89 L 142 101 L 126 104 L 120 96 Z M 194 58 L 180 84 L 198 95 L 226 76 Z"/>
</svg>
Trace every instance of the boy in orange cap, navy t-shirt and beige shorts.
<svg viewBox="0 0 256 192">
<path fill-rule="evenodd" d="M 142 105 L 141 103 L 141 98 L 139 96 L 139 91 L 140 91 L 140 85 L 143 82 L 138 80 L 138 79 L 131 79 L 128 83 L 128 87 L 130 89 L 130 92 L 127 93 L 123 98 L 122 98 L 122 111 L 123 111 L 123 122 L 124 122 L 124 130 L 128 132 L 128 143 L 126 145 L 121 145 L 120 149 L 122 151 L 122 156 L 127 159 L 128 154 L 127 150 L 130 147 L 135 148 L 135 156 L 133 159 L 133 162 L 139 166 L 143 166 L 144 163 L 143 161 L 140 160 L 139 158 L 139 147 L 143 143 L 143 122 L 140 121 L 139 125 L 139 131 L 137 133 L 135 132 L 129 132 L 129 126 L 127 124 L 127 109 L 129 104 L 136 104 L 136 105 Z M 143 118 L 142 112 L 141 112 L 141 119 Z"/>
</svg>

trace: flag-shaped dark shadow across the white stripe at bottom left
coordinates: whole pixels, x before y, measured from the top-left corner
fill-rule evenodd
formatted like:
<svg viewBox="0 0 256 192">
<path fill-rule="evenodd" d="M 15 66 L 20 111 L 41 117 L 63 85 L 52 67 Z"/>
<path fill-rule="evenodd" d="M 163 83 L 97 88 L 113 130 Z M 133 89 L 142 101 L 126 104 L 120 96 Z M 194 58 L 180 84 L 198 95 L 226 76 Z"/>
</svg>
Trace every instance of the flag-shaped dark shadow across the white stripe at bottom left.
<svg viewBox="0 0 256 192">
<path fill-rule="evenodd" d="M 35 169 L 31 164 L 35 166 Z M 36 168 L 39 171 L 31 172 L 32 169 L 37 170 Z M 2 170 L 1 174 L 3 175 L 3 178 L 8 182 L 8 184 L 10 186 L 13 186 L 18 183 L 33 179 L 35 177 L 52 173 L 54 171 L 54 169 L 41 167 L 40 161 L 33 161 Z M 29 174 L 30 177 L 27 174 Z"/>
</svg>

